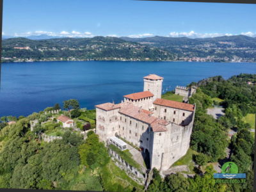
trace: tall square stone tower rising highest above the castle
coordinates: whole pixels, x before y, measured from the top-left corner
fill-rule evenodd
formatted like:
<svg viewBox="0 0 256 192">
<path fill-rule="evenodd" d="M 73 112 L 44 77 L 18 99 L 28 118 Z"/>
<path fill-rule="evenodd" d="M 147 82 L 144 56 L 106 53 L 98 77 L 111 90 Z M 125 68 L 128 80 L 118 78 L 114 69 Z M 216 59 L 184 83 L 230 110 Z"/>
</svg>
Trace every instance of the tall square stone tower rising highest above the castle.
<svg viewBox="0 0 256 192">
<path fill-rule="evenodd" d="M 150 74 L 144 79 L 144 92 L 149 91 L 154 94 L 153 101 L 161 99 L 162 96 L 162 83 L 163 77 L 157 76 L 156 74 Z"/>
</svg>

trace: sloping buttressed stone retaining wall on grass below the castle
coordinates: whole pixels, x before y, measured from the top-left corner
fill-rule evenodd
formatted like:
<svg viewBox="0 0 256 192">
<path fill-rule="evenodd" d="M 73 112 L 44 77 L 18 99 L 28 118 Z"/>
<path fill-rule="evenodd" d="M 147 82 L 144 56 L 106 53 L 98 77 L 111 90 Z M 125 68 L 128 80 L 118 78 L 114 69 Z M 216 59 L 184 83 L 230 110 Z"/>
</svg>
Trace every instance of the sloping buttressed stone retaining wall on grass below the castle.
<svg viewBox="0 0 256 192">
<path fill-rule="evenodd" d="M 109 155 L 111 156 L 111 159 L 113 159 L 113 161 L 115 162 L 116 166 L 124 170 L 127 173 L 127 175 L 131 177 L 132 180 L 135 180 L 139 184 L 145 184 L 147 180 L 146 173 L 141 173 L 140 170 L 128 164 L 114 150 L 111 150 L 111 148 L 109 148 Z"/>
</svg>

